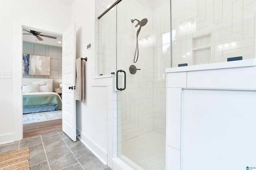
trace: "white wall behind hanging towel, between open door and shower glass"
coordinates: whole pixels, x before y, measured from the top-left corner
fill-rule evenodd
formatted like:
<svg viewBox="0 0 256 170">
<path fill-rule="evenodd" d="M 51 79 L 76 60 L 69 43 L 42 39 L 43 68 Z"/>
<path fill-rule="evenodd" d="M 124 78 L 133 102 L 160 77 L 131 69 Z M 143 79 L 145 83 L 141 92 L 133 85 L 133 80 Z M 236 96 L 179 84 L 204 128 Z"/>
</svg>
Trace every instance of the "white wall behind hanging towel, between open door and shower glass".
<svg viewBox="0 0 256 170">
<path fill-rule="evenodd" d="M 71 21 L 76 22 L 76 58 L 87 57 L 85 64 L 85 100 L 76 102 L 77 133 L 81 141 L 102 162 L 107 162 L 108 87 L 104 78 L 94 79 L 95 59 L 95 1 L 75 0 Z M 86 46 L 91 43 L 91 48 Z M 112 86 L 112 77 L 109 86 Z M 112 89 L 110 88 L 112 92 Z M 112 110 L 111 110 L 112 113 Z M 112 121 L 111 121 L 112 122 Z"/>
</svg>

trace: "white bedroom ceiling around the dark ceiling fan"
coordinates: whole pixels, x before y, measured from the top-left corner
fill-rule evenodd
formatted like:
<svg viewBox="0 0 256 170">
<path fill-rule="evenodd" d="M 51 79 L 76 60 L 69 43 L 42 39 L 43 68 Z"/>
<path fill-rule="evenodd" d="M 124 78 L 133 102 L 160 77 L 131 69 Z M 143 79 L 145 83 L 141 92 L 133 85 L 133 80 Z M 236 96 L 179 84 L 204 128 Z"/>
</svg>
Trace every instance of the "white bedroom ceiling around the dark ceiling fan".
<svg viewBox="0 0 256 170">
<path fill-rule="evenodd" d="M 54 33 L 50 33 L 50 32 L 47 32 L 47 31 L 42 31 L 42 30 L 39 30 L 39 29 L 33 29 L 33 28 L 28 28 L 28 27 L 23 27 L 23 29 L 26 29 L 27 31 L 30 31 L 30 30 L 38 31 L 38 32 L 41 32 L 40 34 L 42 34 L 42 35 L 50 35 L 50 36 L 53 36 L 53 37 L 57 37 L 57 39 L 52 39 L 52 38 L 41 36 L 43 41 L 39 41 L 34 35 L 23 34 L 23 41 L 62 47 L 62 43 L 58 43 L 58 41 L 62 42 L 62 35 L 60 35 L 60 34 L 54 34 Z M 23 30 L 23 33 L 29 33 L 27 31 Z"/>
</svg>

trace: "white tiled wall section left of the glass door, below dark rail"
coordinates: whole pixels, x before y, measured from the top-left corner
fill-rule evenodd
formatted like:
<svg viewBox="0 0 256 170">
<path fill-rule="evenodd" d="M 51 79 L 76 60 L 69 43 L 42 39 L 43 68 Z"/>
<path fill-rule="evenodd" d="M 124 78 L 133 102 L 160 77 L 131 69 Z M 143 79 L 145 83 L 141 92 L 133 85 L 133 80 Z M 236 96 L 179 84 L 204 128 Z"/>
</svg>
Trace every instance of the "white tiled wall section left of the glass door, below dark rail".
<svg viewBox="0 0 256 170">
<path fill-rule="evenodd" d="M 112 4 L 103 0 L 98 0 L 98 15 Z M 114 2 L 113 2 L 114 3 Z M 106 75 L 116 72 L 116 7 L 107 12 L 96 23 L 96 76 Z M 98 26 L 100 25 L 100 26 Z"/>
</svg>

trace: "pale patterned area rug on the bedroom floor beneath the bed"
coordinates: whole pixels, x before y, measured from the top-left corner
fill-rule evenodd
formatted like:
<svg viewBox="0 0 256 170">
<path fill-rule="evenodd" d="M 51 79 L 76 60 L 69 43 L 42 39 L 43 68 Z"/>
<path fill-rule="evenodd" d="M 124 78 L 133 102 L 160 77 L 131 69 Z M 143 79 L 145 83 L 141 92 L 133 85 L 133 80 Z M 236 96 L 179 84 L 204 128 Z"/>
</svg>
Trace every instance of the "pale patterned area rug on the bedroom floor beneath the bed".
<svg viewBox="0 0 256 170">
<path fill-rule="evenodd" d="M 62 110 L 26 113 L 22 117 L 23 125 L 56 119 L 62 119 Z"/>
</svg>

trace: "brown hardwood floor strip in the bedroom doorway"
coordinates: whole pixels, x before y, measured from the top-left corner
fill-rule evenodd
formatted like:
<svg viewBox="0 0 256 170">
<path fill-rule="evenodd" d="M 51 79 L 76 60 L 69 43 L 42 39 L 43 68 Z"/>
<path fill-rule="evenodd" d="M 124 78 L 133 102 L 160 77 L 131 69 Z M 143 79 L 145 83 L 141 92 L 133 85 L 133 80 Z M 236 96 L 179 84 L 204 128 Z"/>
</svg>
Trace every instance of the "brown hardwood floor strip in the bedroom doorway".
<svg viewBox="0 0 256 170">
<path fill-rule="evenodd" d="M 62 131 L 62 119 L 23 125 L 23 138 Z"/>
</svg>

